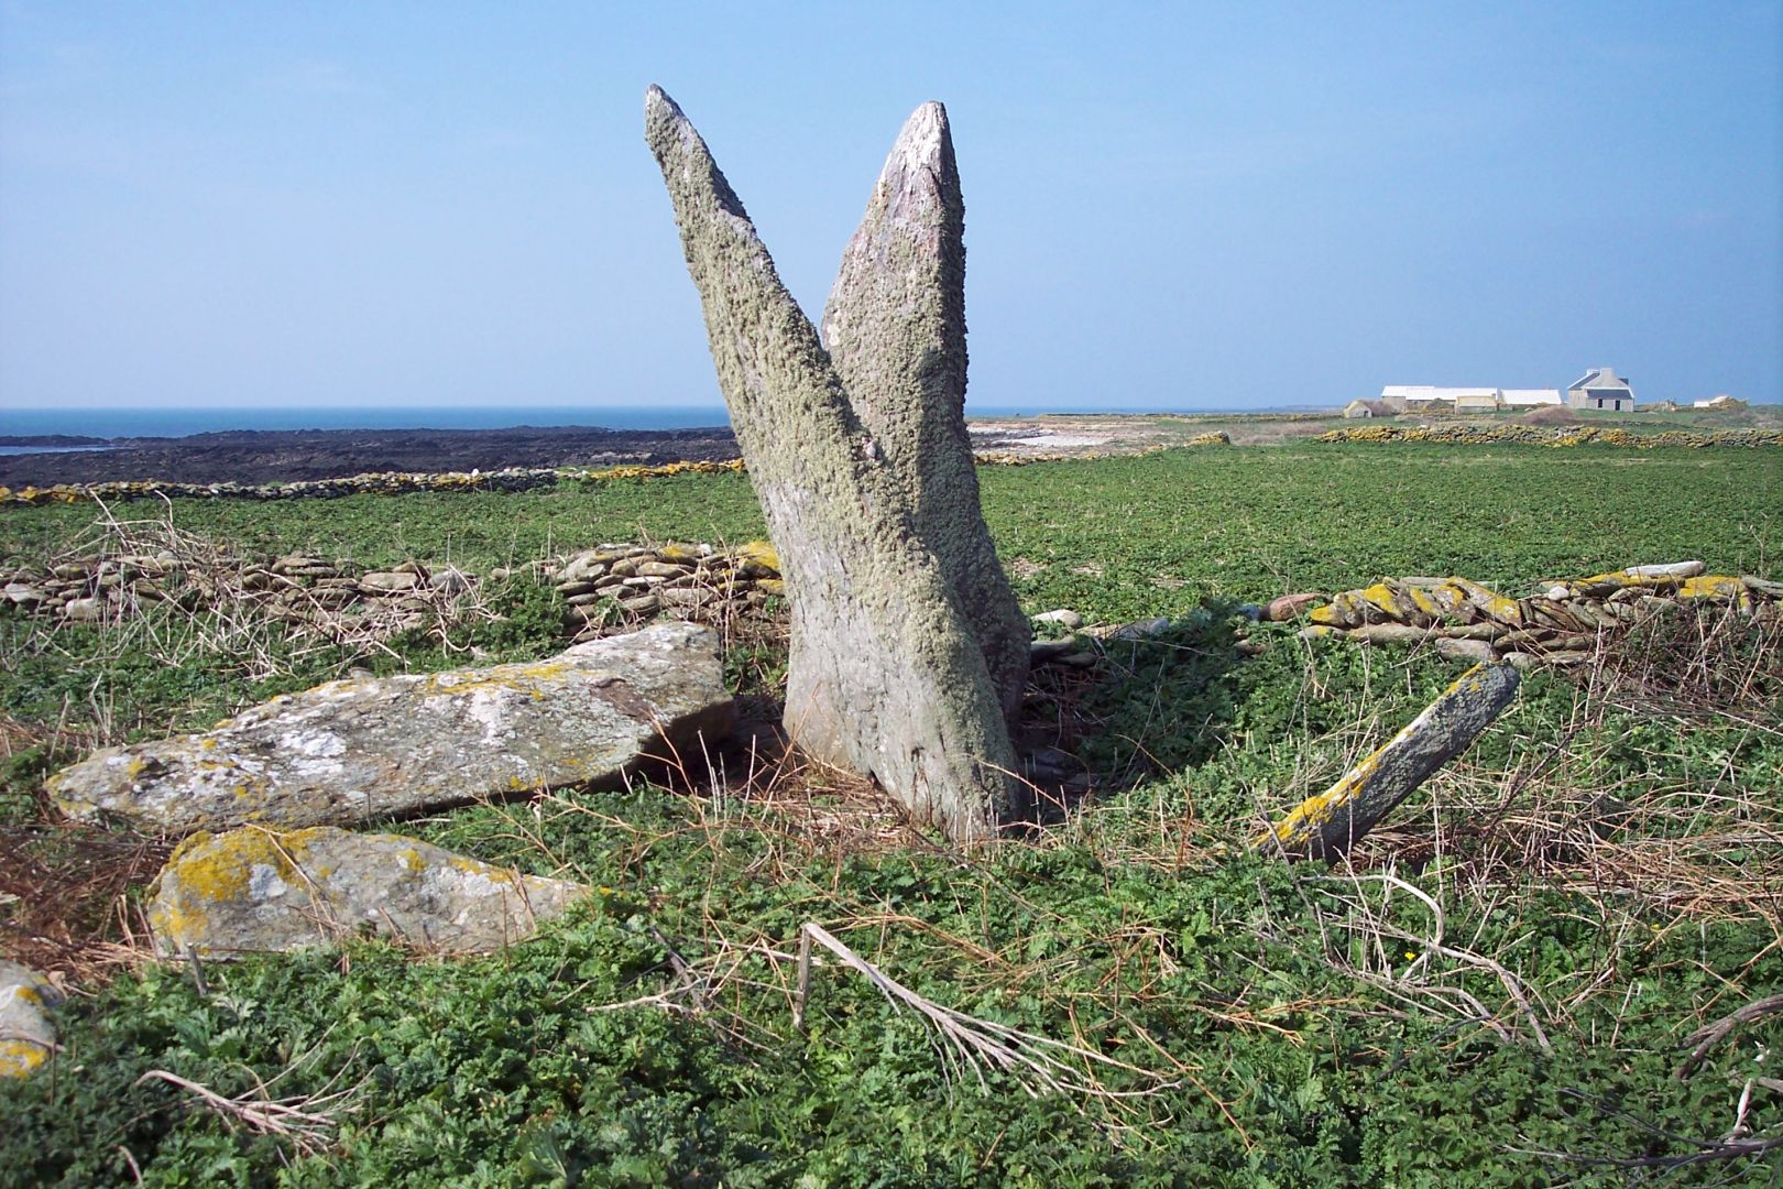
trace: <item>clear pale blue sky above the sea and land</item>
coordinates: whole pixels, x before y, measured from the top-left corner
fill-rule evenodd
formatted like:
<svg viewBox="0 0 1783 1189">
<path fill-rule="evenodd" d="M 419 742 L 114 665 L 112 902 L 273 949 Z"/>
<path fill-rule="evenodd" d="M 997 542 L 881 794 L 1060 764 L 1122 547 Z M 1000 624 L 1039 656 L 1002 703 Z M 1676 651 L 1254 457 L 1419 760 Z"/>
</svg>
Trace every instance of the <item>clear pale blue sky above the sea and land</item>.
<svg viewBox="0 0 1783 1189">
<path fill-rule="evenodd" d="M 1783 399 L 1783 4 L 0 2 L 0 408 L 715 403 L 642 143 L 811 314 L 947 103 L 970 399 Z"/>
</svg>

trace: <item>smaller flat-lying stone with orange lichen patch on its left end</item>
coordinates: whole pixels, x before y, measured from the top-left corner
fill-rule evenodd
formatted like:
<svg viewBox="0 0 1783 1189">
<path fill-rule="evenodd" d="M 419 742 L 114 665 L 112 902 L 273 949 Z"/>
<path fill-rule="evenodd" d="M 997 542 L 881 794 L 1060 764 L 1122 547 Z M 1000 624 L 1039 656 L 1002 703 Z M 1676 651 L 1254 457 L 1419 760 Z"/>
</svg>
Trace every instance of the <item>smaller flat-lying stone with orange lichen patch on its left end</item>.
<svg viewBox="0 0 1783 1189">
<path fill-rule="evenodd" d="M 246 825 L 182 841 L 153 886 L 148 923 L 168 957 L 294 950 L 360 932 L 485 954 L 524 941 L 590 891 L 401 834 Z"/>
</svg>

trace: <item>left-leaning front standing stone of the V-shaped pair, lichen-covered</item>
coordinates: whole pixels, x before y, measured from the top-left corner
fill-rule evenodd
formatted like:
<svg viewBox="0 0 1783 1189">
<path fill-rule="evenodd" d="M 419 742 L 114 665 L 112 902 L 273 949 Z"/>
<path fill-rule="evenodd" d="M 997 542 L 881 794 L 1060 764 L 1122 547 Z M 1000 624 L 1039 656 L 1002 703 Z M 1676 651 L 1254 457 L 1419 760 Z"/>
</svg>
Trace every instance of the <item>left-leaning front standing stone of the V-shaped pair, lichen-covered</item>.
<svg viewBox="0 0 1783 1189">
<path fill-rule="evenodd" d="M 1018 799 L 1015 749 L 906 483 L 704 141 L 660 87 L 644 125 L 779 551 L 792 619 L 788 733 L 818 759 L 877 779 L 915 818 L 956 840 L 984 838 Z"/>
</svg>

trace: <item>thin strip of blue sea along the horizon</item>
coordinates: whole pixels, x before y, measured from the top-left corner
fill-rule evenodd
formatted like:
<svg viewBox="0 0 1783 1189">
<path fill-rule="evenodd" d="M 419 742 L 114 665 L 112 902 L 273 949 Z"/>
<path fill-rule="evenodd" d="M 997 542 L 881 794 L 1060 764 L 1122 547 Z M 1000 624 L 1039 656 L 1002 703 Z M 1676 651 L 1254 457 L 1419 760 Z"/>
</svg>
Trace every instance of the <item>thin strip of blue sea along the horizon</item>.
<svg viewBox="0 0 1783 1189">
<path fill-rule="evenodd" d="M 968 417 L 1041 414 L 1221 414 L 1289 408 L 1022 408 L 966 405 Z M 695 430 L 731 424 L 722 405 L 310 405 L 262 408 L 0 408 L 0 437 L 191 437 L 230 430 Z"/>
</svg>

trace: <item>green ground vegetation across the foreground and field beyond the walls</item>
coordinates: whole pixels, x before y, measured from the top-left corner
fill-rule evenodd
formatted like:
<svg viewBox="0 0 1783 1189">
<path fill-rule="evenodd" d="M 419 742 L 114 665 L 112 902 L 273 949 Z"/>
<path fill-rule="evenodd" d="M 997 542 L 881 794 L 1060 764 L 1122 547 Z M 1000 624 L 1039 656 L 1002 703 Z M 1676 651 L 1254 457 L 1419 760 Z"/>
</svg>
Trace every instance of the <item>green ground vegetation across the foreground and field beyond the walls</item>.
<svg viewBox="0 0 1783 1189">
<path fill-rule="evenodd" d="M 1589 672 L 1530 674 L 1473 750 L 1330 870 L 1245 840 L 1455 670 L 1291 626 L 1252 627 L 1268 647 L 1246 656 L 1232 613 L 1384 574 L 1519 594 L 1703 558 L 1778 578 L 1774 451 L 1234 447 L 981 483 L 1029 611 L 1175 620 L 1113 645 L 1088 688 L 1048 686 L 1102 784 L 1063 822 L 963 856 L 870 790 L 786 768 L 722 797 L 638 784 L 405 824 L 601 895 L 476 961 L 355 943 L 207 964 L 201 986 L 187 966 L 130 966 L 59 1013 L 53 1075 L 0 1091 L 0 1185 L 132 1184 L 132 1162 L 155 1185 L 1610 1185 L 1774 1169 L 1778 1150 L 1717 1144 L 1783 1136 L 1783 1014 L 1674 1071 L 1692 1032 L 1783 988 L 1776 622 L 1705 611 Z M 480 572 L 601 540 L 761 533 L 738 476 L 193 501 L 173 517 L 237 551 Z M 73 553 L 93 522 L 91 506 L 9 510 L 0 551 Z M 91 879 L 68 873 L 91 840 L 45 822 L 37 788 L 94 742 L 200 726 L 348 665 L 562 645 L 560 606 L 526 572 L 492 586 L 490 610 L 503 619 L 380 647 L 241 629 L 180 663 L 146 635 L 123 647 L 119 629 L 0 615 L 0 820 L 23 840 L 0 870 L 29 863 L 70 897 Z M 745 692 L 770 692 L 761 642 L 731 661 Z M 7 938 L 25 907 L 0 907 Z M 1011 1071 L 981 1086 L 836 961 L 813 970 L 799 1032 L 806 922 L 936 1004 L 1122 1066 L 1079 1061 L 1080 1089 L 1039 1098 Z M 75 948 L 68 966 L 91 972 Z M 259 1134 L 150 1070 L 250 1103 L 266 1084 L 325 1121 Z"/>
</svg>

